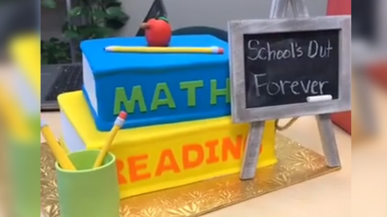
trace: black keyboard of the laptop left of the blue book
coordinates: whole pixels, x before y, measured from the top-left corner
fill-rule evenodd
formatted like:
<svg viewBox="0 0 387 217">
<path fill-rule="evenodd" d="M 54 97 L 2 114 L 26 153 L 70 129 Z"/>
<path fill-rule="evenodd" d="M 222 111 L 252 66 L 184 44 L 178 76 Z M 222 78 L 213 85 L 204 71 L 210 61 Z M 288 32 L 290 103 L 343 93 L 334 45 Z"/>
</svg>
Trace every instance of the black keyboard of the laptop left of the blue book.
<svg viewBox="0 0 387 217">
<path fill-rule="evenodd" d="M 61 93 L 80 90 L 82 87 L 82 66 L 62 66 L 61 74 L 52 84 L 45 99 L 47 101 L 57 100 Z"/>
</svg>

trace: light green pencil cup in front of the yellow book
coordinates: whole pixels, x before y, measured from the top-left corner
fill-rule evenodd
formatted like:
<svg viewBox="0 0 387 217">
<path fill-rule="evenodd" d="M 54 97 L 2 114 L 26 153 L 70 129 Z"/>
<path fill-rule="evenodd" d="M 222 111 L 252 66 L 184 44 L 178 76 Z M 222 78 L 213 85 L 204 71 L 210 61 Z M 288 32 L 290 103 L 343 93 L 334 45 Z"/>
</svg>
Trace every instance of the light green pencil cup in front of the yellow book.
<svg viewBox="0 0 387 217">
<path fill-rule="evenodd" d="M 61 217 L 120 217 L 120 191 L 116 157 L 108 153 L 102 166 L 93 168 L 100 151 L 69 154 L 76 171 L 56 163 Z"/>
</svg>

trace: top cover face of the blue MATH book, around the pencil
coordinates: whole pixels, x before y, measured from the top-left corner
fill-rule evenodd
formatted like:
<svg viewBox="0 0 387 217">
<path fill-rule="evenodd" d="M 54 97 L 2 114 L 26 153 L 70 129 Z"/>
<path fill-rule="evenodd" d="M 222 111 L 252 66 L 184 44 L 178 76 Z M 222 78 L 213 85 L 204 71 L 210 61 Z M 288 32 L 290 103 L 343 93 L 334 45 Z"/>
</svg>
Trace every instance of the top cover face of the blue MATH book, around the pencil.
<svg viewBox="0 0 387 217">
<path fill-rule="evenodd" d="M 119 53 L 106 52 L 107 46 L 147 46 L 144 37 L 108 38 L 84 41 L 80 48 L 87 57 L 95 77 L 118 73 L 120 71 L 145 71 L 214 64 L 228 61 L 228 45 L 211 35 L 176 35 L 170 47 L 210 47 L 225 49 L 223 55 L 214 54 L 157 54 L 157 53 Z"/>
</svg>

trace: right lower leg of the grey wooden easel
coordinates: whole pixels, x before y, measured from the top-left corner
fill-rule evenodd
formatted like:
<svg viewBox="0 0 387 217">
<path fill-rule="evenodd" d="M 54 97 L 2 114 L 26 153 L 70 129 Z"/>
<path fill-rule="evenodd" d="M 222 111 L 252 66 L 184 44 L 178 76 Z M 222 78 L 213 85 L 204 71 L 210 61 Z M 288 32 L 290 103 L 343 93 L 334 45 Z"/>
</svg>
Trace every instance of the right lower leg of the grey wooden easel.
<svg viewBox="0 0 387 217">
<path fill-rule="evenodd" d="M 328 167 L 338 167 L 340 166 L 340 157 L 330 114 L 317 115 L 316 119 L 326 164 Z"/>
</svg>

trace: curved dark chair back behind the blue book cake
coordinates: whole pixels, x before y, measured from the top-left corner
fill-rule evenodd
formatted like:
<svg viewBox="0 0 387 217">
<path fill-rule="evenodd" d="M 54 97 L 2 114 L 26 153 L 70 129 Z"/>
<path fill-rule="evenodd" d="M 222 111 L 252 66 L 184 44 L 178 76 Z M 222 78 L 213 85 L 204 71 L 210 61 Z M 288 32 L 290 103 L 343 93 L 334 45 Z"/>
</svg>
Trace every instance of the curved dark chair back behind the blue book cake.
<svg viewBox="0 0 387 217">
<path fill-rule="evenodd" d="M 172 35 L 183 35 L 183 34 L 210 34 L 225 42 L 228 41 L 227 31 L 218 29 L 218 28 L 207 27 L 207 26 L 190 26 L 190 27 L 179 28 L 172 31 Z"/>
</svg>

